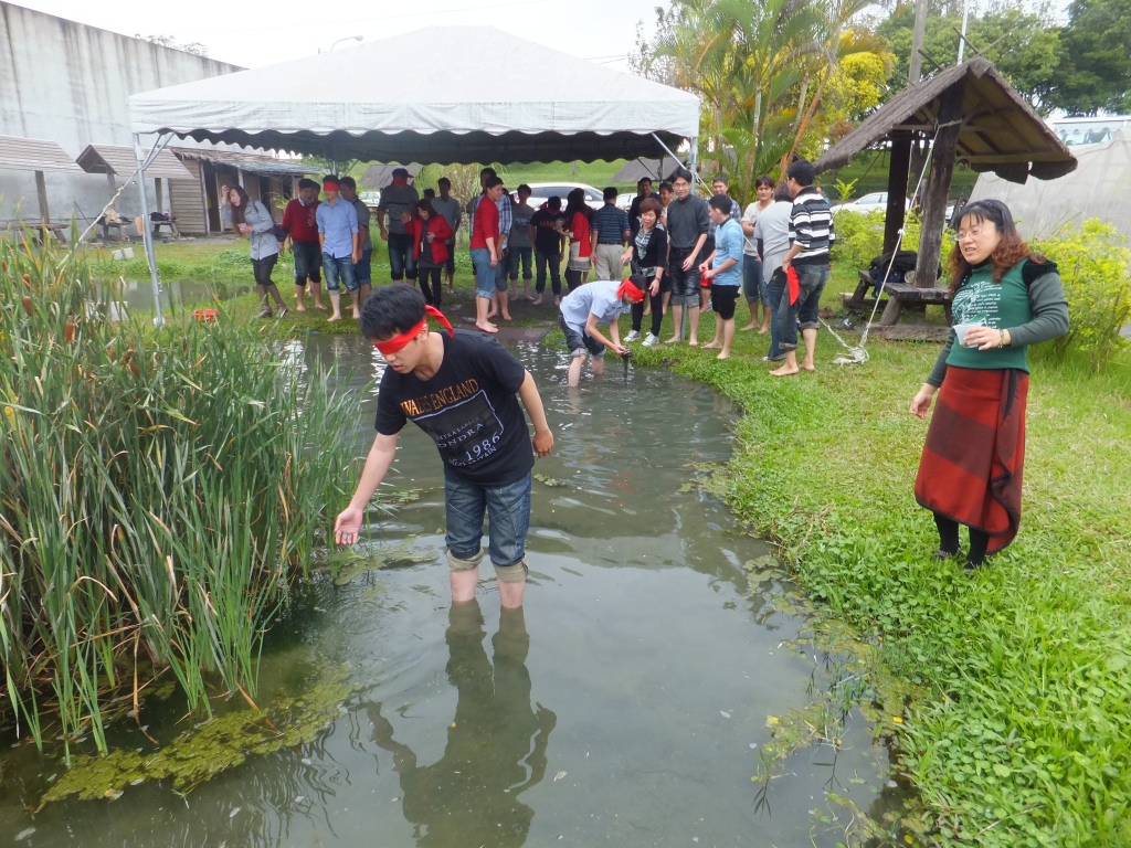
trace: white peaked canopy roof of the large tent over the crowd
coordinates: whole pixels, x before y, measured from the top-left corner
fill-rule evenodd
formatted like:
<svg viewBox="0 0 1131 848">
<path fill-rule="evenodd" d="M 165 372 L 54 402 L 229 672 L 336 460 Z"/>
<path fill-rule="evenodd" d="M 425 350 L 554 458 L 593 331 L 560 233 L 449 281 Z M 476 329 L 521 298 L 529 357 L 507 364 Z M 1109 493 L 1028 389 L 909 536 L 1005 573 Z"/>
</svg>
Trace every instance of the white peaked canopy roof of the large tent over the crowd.
<svg viewBox="0 0 1131 848">
<path fill-rule="evenodd" d="M 426 58 L 426 60 L 425 60 Z M 655 154 L 698 135 L 699 98 L 490 26 L 135 94 L 135 132 L 343 162 L 554 162 Z"/>
</svg>

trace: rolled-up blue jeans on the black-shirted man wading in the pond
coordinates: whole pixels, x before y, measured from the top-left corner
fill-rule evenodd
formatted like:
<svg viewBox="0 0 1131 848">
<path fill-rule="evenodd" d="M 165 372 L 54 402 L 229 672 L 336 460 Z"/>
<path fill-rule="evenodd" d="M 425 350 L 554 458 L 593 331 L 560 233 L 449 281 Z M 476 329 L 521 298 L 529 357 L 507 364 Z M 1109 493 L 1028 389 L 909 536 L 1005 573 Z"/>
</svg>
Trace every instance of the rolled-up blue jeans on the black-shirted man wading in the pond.
<svg viewBox="0 0 1131 848">
<path fill-rule="evenodd" d="M 526 556 L 530 527 L 529 471 L 504 486 L 467 483 L 444 471 L 443 502 L 448 516 L 448 551 L 458 560 L 478 555 L 483 518 L 487 519 L 487 554 L 495 565 L 515 565 Z"/>
</svg>

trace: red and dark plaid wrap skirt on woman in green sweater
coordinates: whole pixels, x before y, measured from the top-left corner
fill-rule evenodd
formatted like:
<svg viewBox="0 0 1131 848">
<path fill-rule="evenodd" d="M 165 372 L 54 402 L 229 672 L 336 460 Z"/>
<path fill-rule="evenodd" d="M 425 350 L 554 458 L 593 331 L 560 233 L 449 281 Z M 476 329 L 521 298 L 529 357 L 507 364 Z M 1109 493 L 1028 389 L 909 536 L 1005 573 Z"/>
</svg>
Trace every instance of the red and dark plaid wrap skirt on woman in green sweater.
<svg viewBox="0 0 1131 848">
<path fill-rule="evenodd" d="M 939 389 L 915 500 L 1005 547 L 1021 523 L 1025 407 L 1029 375 L 951 365 Z"/>
</svg>

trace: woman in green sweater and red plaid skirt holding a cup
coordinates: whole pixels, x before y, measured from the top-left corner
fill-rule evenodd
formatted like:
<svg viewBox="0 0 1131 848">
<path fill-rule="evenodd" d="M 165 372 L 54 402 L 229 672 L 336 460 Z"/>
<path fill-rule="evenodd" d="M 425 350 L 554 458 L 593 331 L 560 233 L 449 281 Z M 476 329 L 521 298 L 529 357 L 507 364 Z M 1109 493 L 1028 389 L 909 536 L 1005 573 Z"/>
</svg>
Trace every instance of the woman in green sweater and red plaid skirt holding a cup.
<svg viewBox="0 0 1131 848">
<path fill-rule="evenodd" d="M 956 321 L 910 412 L 931 416 L 915 500 L 934 513 L 935 557 L 958 553 L 958 526 L 970 533 L 966 569 L 1005 547 L 1021 521 L 1029 345 L 1068 332 L 1068 302 L 1056 263 L 1029 252 L 1000 200 L 961 211 L 950 254 Z"/>
</svg>

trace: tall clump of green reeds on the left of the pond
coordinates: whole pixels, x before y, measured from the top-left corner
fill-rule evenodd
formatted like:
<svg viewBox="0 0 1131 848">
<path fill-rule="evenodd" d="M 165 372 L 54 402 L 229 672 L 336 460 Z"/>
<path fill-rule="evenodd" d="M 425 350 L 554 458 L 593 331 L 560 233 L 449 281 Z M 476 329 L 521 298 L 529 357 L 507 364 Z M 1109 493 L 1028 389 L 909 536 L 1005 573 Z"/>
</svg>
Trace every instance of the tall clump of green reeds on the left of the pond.
<svg viewBox="0 0 1131 848">
<path fill-rule="evenodd" d="M 250 698 L 356 400 L 269 330 L 111 322 L 80 259 L 0 262 L 0 719 L 105 750 L 111 693 L 157 674 Z"/>
</svg>

